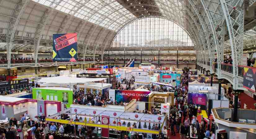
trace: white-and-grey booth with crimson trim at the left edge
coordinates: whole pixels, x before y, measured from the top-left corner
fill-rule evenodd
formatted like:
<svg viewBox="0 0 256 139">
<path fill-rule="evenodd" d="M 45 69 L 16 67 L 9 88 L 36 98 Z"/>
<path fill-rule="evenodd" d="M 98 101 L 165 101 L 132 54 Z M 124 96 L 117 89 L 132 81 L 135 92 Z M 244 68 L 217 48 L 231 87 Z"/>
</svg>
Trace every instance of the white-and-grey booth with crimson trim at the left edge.
<svg viewBox="0 0 256 139">
<path fill-rule="evenodd" d="M 33 119 L 36 116 L 41 116 L 42 114 L 47 116 L 47 115 L 53 115 L 56 112 L 61 111 L 60 101 L 46 101 L 46 100 L 35 100 L 35 99 L 1 96 L 0 105 L 1 105 L 1 111 L 0 111 L 1 120 L 15 117 L 19 121 L 20 115 L 24 114 L 26 111 L 28 112 L 29 117 Z"/>
</svg>

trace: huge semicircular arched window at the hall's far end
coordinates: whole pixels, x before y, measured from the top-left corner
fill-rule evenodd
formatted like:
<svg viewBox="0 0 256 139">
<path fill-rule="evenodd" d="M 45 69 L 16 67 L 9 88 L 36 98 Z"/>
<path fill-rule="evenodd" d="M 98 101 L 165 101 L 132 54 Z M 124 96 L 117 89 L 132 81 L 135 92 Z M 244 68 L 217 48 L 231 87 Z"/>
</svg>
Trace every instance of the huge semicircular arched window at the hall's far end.
<svg viewBox="0 0 256 139">
<path fill-rule="evenodd" d="M 188 32 L 171 20 L 156 16 L 135 19 L 117 32 L 110 47 L 191 47 Z"/>
</svg>

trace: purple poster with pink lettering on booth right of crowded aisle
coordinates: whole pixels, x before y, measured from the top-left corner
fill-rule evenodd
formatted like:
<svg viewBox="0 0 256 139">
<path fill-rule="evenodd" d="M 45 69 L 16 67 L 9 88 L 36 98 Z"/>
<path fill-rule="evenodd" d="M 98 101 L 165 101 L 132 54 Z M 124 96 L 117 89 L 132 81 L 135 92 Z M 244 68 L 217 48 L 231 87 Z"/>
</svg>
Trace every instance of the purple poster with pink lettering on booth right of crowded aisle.
<svg viewBox="0 0 256 139">
<path fill-rule="evenodd" d="M 188 93 L 188 104 L 206 105 L 206 94 Z"/>
</svg>

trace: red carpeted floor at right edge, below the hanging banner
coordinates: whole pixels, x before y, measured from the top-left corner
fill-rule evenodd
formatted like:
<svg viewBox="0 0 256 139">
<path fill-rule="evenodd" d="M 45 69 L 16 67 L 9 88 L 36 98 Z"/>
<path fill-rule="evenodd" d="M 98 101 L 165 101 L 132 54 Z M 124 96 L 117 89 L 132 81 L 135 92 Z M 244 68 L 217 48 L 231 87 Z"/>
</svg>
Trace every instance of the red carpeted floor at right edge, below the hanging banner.
<svg viewBox="0 0 256 139">
<path fill-rule="evenodd" d="M 241 93 L 239 95 L 239 99 L 241 100 L 241 108 L 244 108 L 244 103 L 247 105 L 247 109 L 255 109 L 255 106 L 253 105 L 256 103 L 256 100 L 249 97 L 245 93 Z"/>
</svg>

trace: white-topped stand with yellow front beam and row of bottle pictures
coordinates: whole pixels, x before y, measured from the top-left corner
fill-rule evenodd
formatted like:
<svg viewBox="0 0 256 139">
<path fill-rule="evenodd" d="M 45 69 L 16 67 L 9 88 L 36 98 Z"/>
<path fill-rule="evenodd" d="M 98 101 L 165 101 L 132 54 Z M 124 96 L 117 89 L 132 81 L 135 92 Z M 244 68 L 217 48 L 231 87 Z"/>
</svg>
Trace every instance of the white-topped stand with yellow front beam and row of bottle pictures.
<svg viewBox="0 0 256 139">
<path fill-rule="evenodd" d="M 96 127 L 97 134 L 107 138 L 115 138 L 112 136 L 113 132 L 118 134 L 119 131 L 142 133 L 141 135 L 144 138 L 151 138 L 152 134 L 159 135 L 163 126 L 168 123 L 166 122 L 167 114 L 150 115 L 131 112 L 136 109 L 135 102 L 133 100 L 126 106 L 106 105 L 105 107 L 72 104 L 71 108 L 47 117 L 46 121 Z M 55 119 L 56 116 L 61 114 L 67 114 L 70 118 Z M 79 119 L 79 121 L 75 121 L 75 119 Z M 159 130 L 152 129 L 155 124 L 157 124 Z"/>
</svg>

